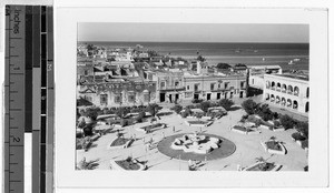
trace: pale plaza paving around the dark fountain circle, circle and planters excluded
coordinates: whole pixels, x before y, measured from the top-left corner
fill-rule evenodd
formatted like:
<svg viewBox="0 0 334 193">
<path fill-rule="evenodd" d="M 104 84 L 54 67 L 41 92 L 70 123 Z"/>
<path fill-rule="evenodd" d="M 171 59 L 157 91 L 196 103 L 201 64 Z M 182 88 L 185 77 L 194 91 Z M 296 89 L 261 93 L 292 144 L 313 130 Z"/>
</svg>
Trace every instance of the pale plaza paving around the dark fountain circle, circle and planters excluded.
<svg viewBox="0 0 334 193">
<path fill-rule="evenodd" d="M 165 110 L 168 111 L 168 110 Z M 220 120 L 214 122 L 208 128 L 203 128 L 203 131 L 210 134 L 216 134 L 233 141 L 236 144 L 236 151 L 230 156 L 220 160 L 207 161 L 199 170 L 208 171 L 236 171 L 237 165 L 247 166 L 255 163 L 255 159 L 263 156 L 269 162 L 284 165 L 283 171 L 303 171 L 307 165 L 307 158 L 305 151 L 292 141 L 291 134 L 296 132 L 294 130 L 287 130 L 283 132 L 273 132 L 264 130 L 258 135 L 243 135 L 228 130 L 229 126 L 237 123 L 242 115 L 245 114 L 243 109 L 229 111 L 228 115 L 223 116 Z M 160 141 L 164 135 L 174 135 L 176 133 L 189 133 L 199 131 L 199 128 L 191 128 L 185 124 L 185 119 L 179 118 L 173 113 L 170 115 L 161 116 L 159 121 L 167 123 L 169 126 L 166 129 L 154 131 L 153 133 L 145 134 L 144 132 L 135 130 L 136 128 L 148 125 L 148 122 L 138 123 L 136 125 L 126 126 L 124 129 L 125 138 L 129 138 L 136 134 L 137 141 L 128 149 L 109 150 L 108 146 L 117 138 L 117 132 L 110 132 L 102 135 L 96 142 L 92 148 L 87 152 L 77 151 L 77 160 L 81 160 L 84 156 L 87 161 L 99 160 L 99 166 L 97 170 L 109 170 L 110 160 L 124 160 L 127 156 L 132 156 L 139 161 L 147 161 L 148 170 L 188 170 L 187 161 L 179 161 L 178 159 L 168 158 L 157 149 L 147 150 L 144 144 L 150 138 L 155 142 Z M 173 126 L 176 132 L 174 133 Z M 276 136 L 277 140 L 283 141 L 287 149 L 286 155 L 273 155 L 264 151 L 261 145 L 261 141 L 266 141 L 271 136 Z"/>
</svg>

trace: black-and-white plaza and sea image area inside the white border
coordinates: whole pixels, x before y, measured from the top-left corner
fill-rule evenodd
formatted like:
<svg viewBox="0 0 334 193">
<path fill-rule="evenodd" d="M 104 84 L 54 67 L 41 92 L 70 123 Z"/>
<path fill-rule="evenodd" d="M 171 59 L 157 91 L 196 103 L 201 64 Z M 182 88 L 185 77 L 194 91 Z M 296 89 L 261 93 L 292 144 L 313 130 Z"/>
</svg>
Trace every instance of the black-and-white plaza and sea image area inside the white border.
<svg viewBox="0 0 334 193">
<path fill-rule="evenodd" d="M 307 172 L 308 33 L 79 22 L 76 170 Z"/>
</svg>

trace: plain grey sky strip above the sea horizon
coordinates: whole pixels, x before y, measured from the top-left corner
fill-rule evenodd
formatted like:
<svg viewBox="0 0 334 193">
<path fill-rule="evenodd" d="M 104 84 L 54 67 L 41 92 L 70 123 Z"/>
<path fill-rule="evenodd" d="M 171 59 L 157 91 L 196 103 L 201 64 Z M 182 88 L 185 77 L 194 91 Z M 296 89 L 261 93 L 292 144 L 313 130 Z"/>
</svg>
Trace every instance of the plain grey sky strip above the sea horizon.
<svg viewBox="0 0 334 193">
<path fill-rule="evenodd" d="M 78 23 L 78 41 L 308 43 L 308 24 Z"/>
</svg>

